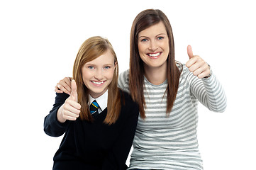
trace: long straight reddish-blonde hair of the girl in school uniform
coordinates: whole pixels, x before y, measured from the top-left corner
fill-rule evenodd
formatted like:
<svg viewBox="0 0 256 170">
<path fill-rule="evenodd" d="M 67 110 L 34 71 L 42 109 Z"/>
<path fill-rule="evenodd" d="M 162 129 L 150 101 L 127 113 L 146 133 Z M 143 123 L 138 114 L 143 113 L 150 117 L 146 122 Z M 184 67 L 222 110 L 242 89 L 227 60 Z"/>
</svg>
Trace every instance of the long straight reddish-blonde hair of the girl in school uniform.
<svg viewBox="0 0 256 170">
<path fill-rule="evenodd" d="M 87 86 L 84 85 L 82 79 L 82 67 L 87 62 L 90 62 L 97 57 L 104 55 L 105 52 L 110 51 L 114 57 L 116 68 L 113 73 L 113 79 L 108 85 L 108 104 L 107 104 L 107 115 L 104 123 L 111 125 L 116 123 L 119 113 L 121 111 L 121 94 L 118 89 L 118 62 L 116 53 L 113 50 L 111 43 L 106 38 L 100 36 L 91 37 L 84 41 L 79 48 L 76 60 L 74 61 L 73 67 L 73 79 L 77 83 L 77 98 L 78 103 L 82 106 L 80 118 L 81 120 L 87 120 L 92 122 L 94 119 L 89 112 L 88 99 L 89 91 Z"/>
</svg>

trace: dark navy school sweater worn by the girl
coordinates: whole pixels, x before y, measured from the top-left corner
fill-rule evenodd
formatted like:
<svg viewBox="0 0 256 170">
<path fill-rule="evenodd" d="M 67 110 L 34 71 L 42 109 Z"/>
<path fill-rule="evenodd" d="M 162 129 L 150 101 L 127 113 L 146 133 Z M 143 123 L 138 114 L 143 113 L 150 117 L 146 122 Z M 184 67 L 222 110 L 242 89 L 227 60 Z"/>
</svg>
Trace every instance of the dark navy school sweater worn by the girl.
<svg viewBox="0 0 256 170">
<path fill-rule="evenodd" d="M 133 143 L 138 122 L 138 104 L 126 92 L 121 113 L 113 125 L 103 123 L 107 108 L 94 123 L 77 118 L 60 123 L 57 110 L 69 95 L 56 94 L 52 111 L 45 117 L 45 133 L 58 137 L 65 133 L 60 148 L 53 157 L 52 169 L 127 169 L 126 159 Z"/>
</svg>

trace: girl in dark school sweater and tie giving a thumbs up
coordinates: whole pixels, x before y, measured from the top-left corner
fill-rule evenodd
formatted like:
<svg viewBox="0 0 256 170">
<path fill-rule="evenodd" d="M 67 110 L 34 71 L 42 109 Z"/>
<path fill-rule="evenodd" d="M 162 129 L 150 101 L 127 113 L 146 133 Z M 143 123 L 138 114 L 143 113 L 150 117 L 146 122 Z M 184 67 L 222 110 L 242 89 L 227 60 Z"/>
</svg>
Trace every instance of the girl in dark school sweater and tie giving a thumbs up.
<svg viewBox="0 0 256 170">
<path fill-rule="evenodd" d="M 118 89 L 118 62 L 110 42 L 92 37 L 79 49 L 71 95 L 57 94 L 45 133 L 65 133 L 53 169 L 127 169 L 138 105 Z"/>
</svg>

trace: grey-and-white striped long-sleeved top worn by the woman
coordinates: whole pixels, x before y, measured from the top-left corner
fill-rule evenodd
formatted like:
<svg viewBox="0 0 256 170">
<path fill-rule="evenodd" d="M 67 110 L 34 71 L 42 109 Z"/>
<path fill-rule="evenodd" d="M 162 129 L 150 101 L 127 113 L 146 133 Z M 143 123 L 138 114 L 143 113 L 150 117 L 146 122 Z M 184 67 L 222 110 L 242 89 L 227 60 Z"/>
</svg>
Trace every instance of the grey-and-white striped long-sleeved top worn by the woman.
<svg viewBox="0 0 256 170">
<path fill-rule="evenodd" d="M 214 74 L 195 77 L 184 65 L 171 113 L 167 116 L 167 81 L 160 85 L 144 80 L 145 115 L 138 119 L 129 169 L 203 169 L 196 128 L 198 103 L 210 111 L 226 109 L 226 95 Z M 129 91 L 129 71 L 119 75 L 118 86 Z M 164 97 L 163 97 L 164 96 Z"/>
</svg>

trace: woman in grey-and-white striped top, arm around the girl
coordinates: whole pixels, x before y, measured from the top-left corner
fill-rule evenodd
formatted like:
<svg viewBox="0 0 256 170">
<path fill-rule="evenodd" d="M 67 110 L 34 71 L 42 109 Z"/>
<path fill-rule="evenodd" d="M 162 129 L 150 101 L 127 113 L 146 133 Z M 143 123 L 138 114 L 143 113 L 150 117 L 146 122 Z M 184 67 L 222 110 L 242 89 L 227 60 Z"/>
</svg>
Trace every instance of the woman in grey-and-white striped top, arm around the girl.
<svg viewBox="0 0 256 170">
<path fill-rule="evenodd" d="M 196 136 L 198 101 L 223 112 L 226 96 L 208 64 L 190 46 L 187 52 L 186 65 L 175 62 L 172 28 L 162 11 L 136 16 L 130 69 L 118 79 L 140 109 L 129 169 L 203 169 Z M 65 78 L 55 91 L 68 91 L 69 84 Z"/>
</svg>

